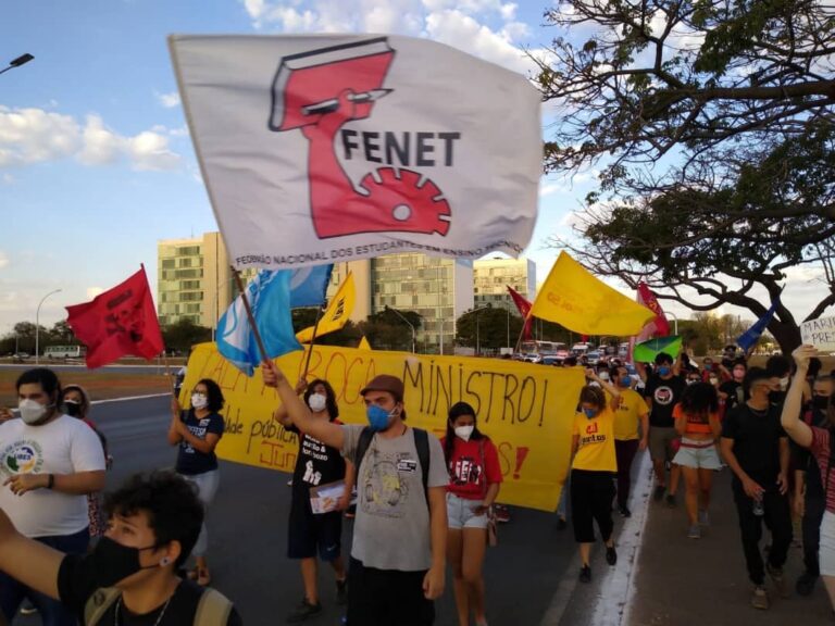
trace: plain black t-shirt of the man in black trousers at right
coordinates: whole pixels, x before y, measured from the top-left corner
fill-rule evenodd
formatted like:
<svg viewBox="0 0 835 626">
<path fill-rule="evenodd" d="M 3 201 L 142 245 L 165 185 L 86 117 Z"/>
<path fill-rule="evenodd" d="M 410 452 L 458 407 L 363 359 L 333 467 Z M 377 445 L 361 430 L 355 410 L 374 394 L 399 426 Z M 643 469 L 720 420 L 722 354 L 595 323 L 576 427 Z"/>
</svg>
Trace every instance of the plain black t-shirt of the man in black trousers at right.
<svg viewBox="0 0 835 626">
<path fill-rule="evenodd" d="M 780 424 L 780 409 L 757 411 L 741 404 L 722 423 L 722 437 L 734 440 L 734 454 L 751 479 L 767 490 L 776 489 L 780 475 L 780 440 L 787 437 Z M 736 476 L 734 479 L 737 480 Z"/>
</svg>

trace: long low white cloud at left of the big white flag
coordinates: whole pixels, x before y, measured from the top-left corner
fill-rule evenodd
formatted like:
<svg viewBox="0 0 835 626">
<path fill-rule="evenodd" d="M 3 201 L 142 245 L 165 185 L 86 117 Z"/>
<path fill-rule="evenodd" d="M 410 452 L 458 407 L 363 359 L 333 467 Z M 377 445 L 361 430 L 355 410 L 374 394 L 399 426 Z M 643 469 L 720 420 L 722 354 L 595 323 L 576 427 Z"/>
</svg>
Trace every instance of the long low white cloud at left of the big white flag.
<svg viewBox="0 0 835 626">
<path fill-rule="evenodd" d="M 180 156 L 169 148 L 165 127 L 130 136 L 108 128 L 90 114 L 82 125 L 71 115 L 42 109 L 0 107 L 0 167 L 73 158 L 84 165 L 110 165 L 126 159 L 134 170 L 176 170 Z"/>
</svg>

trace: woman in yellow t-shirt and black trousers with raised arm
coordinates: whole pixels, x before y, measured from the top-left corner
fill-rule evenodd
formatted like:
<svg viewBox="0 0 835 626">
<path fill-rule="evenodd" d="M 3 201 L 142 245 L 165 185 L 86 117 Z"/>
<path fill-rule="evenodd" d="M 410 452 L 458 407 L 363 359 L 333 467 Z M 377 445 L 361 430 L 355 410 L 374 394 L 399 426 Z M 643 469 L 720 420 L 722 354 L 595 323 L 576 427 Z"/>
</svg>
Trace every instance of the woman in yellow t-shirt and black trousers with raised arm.
<svg viewBox="0 0 835 626">
<path fill-rule="evenodd" d="M 586 376 L 599 386 L 586 385 L 579 392 L 581 410 L 574 416 L 571 440 L 571 510 L 574 539 L 579 543 L 581 583 L 591 581 L 589 559 L 595 522 L 606 543 L 607 563 L 618 562 L 612 539 L 612 499 L 618 472 L 614 412 L 621 395 L 616 387 L 600 380 L 593 370 L 587 370 Z"/>
</svg>

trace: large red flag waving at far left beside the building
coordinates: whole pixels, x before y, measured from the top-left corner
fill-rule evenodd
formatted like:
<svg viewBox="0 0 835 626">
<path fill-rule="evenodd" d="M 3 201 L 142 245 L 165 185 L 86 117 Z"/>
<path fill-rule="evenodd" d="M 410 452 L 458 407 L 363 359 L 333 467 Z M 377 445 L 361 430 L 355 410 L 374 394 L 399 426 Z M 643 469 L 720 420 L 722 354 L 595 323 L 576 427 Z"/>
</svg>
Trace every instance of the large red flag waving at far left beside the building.
<svg viewBox="0 0 835 626">
<path fill-rule="evenodd" d="M 135 354 L 153 359 L 165 348 L 145 266 L 91 302 L 66 308 L 66 323 L 87 346 L 87 367 Z"/>
</svg>

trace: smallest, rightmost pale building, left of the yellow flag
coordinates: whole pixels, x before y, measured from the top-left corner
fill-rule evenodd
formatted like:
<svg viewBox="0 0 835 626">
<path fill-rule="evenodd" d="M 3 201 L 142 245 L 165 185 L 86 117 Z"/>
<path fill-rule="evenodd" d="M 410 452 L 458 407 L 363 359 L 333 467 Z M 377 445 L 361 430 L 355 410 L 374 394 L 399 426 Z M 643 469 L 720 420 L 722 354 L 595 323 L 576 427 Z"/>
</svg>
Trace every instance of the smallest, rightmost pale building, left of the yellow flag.
<svg viewBox="0 0 835 626">
<path fill-rule="evenodd" d="M 476 306 L 516 306 L 508 292 L 513 287 L 525 300 L 536 298 L 536 263 L 529 259 L 482 259 L 473 263 L 473 298 Z"/>
</svg>

